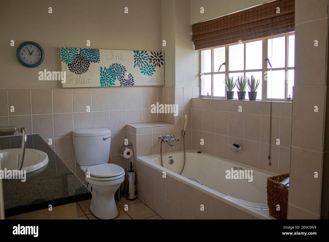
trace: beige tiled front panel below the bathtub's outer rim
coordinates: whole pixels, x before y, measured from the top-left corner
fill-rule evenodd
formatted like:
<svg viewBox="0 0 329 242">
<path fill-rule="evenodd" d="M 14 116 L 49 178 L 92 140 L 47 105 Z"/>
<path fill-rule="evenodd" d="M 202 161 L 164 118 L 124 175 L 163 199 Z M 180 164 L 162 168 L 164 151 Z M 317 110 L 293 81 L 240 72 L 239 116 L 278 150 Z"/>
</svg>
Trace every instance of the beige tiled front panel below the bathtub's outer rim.
<svg viewBox="0 0 329 242">
<path fill-rule="evenodd" d="M 164 219 L 258 219 L 137 161 L 138 198 Z M 141 191 L 145 197 L 140 197 Z M 200 205 L 204 205 L 204 211 Z"/>
</svg>

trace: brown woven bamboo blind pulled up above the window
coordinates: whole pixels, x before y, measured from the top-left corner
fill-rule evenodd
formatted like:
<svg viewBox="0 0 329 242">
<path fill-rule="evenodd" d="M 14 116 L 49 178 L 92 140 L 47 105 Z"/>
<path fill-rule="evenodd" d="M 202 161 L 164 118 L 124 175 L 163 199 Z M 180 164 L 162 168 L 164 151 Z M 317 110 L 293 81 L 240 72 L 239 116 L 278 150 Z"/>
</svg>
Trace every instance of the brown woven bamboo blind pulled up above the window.
<svg viewBox="0 0 329 242">
<path fill-rule="evenodd" d="M 278 9 L 280 8 L 280 13 Z M 231 44 L 294 31 L 295 0 L 276 0 L 192 25 L 194 49 Z"/>
</svg>

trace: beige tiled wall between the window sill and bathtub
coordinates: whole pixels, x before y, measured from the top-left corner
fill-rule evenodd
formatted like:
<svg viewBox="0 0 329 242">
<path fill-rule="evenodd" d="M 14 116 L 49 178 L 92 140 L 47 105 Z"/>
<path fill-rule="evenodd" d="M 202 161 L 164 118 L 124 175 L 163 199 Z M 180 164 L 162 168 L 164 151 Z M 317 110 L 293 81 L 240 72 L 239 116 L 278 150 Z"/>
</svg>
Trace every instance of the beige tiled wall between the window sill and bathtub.
<svg viewBox="0 0 329 242">
<path fill-rule="evenodd" d="M 276 174 L 289 173 L 291 105 L 272 102 L 271 166 L 267 101 L 193 98 L 192 149 Z M 200 139 L 204 139 L 204 145 L 200 145 Z M 276 145 L 277 139 L 280 145 Z M 234 143 L 242 146 L 237 153 L 228 148 Z"/>
</svg>

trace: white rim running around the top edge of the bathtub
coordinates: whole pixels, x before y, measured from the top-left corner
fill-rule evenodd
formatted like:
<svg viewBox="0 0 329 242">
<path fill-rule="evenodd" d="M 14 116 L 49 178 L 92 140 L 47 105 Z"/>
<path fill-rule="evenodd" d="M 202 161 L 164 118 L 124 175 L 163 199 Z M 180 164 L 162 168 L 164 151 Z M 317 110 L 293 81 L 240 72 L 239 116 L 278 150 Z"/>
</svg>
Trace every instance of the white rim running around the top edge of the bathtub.
<svg viewBox="0 0 329 242">
<path fill-rule="evenodd" d="M 179 154 L 179 153 L 183 153 L 183 151 L 181 150 L 181 151 L 166 152 L 163 155 Z M 193 150 L 193 149 L 186 150 L 186 153 L 198 154 L 197 151 Z M 215 158 L 215 159 L 218 159 L 218 160 L 222 160 L 222 161 L 226 161 L 226 162 L 229 162 L 229 163 L 236 164 L 241 168 L 246 168 L 246 170 L 255 170 L 255 171 L 263 172 L 263 173 L 266 173 L 269 176 L 277 175 L 275 173 L 271 173 L 271 172 L 264 171 L 264 170 L 261 170 L 261 169 L 255 168 L 255 167 L 247 166 L 247 165 L 244 165 L 244 164 L 241 164 L 241 163 L 238 163 L 238 162 L 235 162 L 235 161 L 231 161 L 231 160 L 228 160 L 228 159 L 223 159 L 223 158 L 220 158 L 220 157 L 217 157 L 217 156 L 214 156 L 214 155 L 210 155 L 210 154 L 207 154 L 207 153 L 201 153 L 201 154 L 209 156 L 211 158 Z M 267 203 L 255 203 L 255 202 L 244 201 L 244 200 L 241 200 L 241 199 L 237 199 L 237 198 L 234 198 L 234 197 L 231 197 L 231 196 L 224 195 L 224 194 L 222 194 L 220 192 L 217 192 L 214 189 L 211 189 L 207 186 L 200 185 L 197 182 L 192 182 L 190 179 L 188 179 L 188 178 L 186 178 L 182 175 L 179 175 L 175 172 L 172 172 L 172 171 L 156 164 L 155 162 L 151 161 L 154 158 L 158 158 L 159 156 L 160 156 L 160 153 L 159 154 L 153 154 L 153 155 L 138 156 L 138 157 L 136 157 L 136 159 L 137 159 L 137 161 L 141 162 L 144 165 L 147 165 L 147 166 L 149 166 L 149 167 L 151 167 L 151 168 L 153 168 L 153 169 L 155 169 L 159 172 L 166 172 L 166 175 L 169 175 L 171 178 L 175 178 L 176 180 L 178 180 L 180 182 L 183 182 L 186 185 L 189 185 L 189 186 L 191 186 L 191 187 L 193 187 L 193 188 L 195 188 L 195 189 L 197 189 L 201 192 L 206 193 L 207 195 L 212 196 L 213 198 L 219 199 L 220 201 L 225 202 L 225 203 L 227 203 L 227 204 L 229 204 L 229 205 L 231 205 L 231 206 L 233 206 L 237 209 L 240 209 L 240 210 L 242 210 L 242 211 L 244 211 L 248 214 L 251 214 L 251 215 L 253 215 L 253 216 L 255 216 L 259 219 L 275 219 L 275 218 L 273 218 L 269 215 Z M 143 159 L 149 159 L 150 162 L 147 162 Z M 138 173 L 138 171 L 137 171 L 137 173 Z M 243 205 L 242 203 L 245 203 L 247 205 Z M 257 206 L 257 204 L 259 204 L 259 205 Z M 264 204 L 266 204 L 266 209 L 262 209 L 262 208 L 264 208 Z M 255 208 L 253 209 L 252 207 L 255 207 Z M 262 208 L 260 208 L 260 207 L 262 207 Z M 261 211 L 261 212 L 257 212 L 257 211 Z"/>
</svg>

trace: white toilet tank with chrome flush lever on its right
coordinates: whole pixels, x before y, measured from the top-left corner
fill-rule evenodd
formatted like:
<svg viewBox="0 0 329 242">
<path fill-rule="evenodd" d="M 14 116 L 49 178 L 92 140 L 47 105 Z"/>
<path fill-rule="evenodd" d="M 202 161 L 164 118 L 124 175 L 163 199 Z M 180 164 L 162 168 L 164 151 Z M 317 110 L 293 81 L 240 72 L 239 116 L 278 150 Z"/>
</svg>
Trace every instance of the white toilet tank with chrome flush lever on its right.
<svg viewBox="0 0 329 242">
<path fill-rule="evenodd" d="M 75 159 L 80 166 L 107 163 L 111 148 L 111 130 L 78 129 L 72 132 Z"/>
</svg>

